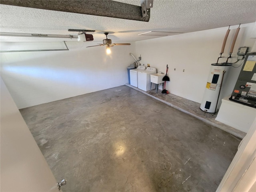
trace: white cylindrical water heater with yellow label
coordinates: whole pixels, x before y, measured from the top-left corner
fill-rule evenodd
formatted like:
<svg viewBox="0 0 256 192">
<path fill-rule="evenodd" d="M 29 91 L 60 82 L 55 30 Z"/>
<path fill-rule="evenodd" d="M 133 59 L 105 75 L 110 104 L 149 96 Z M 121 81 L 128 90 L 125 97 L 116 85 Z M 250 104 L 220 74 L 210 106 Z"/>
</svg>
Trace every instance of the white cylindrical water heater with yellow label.
<svg viewBox="0 0 256 192">
<path fill-rule="evenodd" d="M 223 85 L 224 79 L 231 65 L 232 64 L 228 63 L 211 64 L 210 74 L 200 106 L 200 109 L 204 112 L 216 112 L 221 86 Z"/>
</svg>

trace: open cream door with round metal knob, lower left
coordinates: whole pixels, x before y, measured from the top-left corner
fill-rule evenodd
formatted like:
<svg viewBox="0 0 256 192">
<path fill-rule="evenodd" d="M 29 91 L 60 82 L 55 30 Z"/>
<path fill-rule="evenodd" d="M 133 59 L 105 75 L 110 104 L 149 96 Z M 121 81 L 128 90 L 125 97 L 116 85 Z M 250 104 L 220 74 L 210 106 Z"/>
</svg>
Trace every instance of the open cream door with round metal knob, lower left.
<svg viewBox="0 0 256 192">
<path fill-rule="evenodd" d="M 0 78 L 2 192 L 59 192 L 44 156 Z"/>
</svg>

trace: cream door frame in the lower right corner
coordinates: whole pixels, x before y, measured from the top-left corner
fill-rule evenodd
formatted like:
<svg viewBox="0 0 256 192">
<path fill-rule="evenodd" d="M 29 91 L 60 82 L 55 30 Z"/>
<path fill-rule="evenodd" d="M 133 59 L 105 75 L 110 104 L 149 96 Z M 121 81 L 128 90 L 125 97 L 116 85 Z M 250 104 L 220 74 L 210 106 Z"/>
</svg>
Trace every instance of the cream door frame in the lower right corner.
<svg viewBox="0 0 256 192">
<path fill-rule="evenodd" d="M 256 117 L 216 192 L 256 191 Z"/>
</svg>

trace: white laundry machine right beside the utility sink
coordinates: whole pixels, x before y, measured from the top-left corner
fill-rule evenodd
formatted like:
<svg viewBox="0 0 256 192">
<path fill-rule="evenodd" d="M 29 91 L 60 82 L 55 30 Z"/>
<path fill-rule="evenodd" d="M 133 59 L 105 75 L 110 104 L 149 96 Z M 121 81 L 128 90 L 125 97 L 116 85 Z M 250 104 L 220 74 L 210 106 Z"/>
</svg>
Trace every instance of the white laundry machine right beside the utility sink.
<svg viewBox="0 0 256 192">
<path fill-rule="evenodd" d="M 156 68 L 148 67 L 144 71 L 138 71 L 138 88 L 144 91 L 149 91 L 151 81 L 150 74 L 156 73 Z M 152 89 L 156 88 L 156 84 L 152 84 Z"/>
</svg>

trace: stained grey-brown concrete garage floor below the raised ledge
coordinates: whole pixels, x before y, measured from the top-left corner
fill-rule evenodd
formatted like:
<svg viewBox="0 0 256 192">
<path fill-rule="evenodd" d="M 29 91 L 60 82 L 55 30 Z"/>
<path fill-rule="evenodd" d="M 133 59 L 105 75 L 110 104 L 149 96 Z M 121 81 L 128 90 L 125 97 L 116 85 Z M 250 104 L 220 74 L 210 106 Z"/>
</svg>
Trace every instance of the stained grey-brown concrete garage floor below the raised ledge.
<svg viewBox="0 0 256 192">
<path fill-rule="evenodd" d="M 63 192 L 214 192 L 240 143 L 128 86 L 20 112 Z"/>
</svg>

